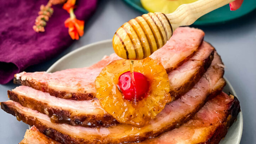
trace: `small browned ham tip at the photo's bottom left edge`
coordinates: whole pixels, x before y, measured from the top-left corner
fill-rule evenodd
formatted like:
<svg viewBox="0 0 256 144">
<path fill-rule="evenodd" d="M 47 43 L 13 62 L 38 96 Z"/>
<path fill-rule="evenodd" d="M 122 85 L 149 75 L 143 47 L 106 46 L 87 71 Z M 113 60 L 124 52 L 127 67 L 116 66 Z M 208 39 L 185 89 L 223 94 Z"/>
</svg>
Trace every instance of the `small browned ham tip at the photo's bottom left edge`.
<svg viewBox="0 0 256 144">
<path fill-rule="evenodd" d="M 43 133 L 39 132 L 35 126 L 27 129 L 24 139 L 19 144 L 60 144 L 55 140 L 46 137 Z"/>
</svg>

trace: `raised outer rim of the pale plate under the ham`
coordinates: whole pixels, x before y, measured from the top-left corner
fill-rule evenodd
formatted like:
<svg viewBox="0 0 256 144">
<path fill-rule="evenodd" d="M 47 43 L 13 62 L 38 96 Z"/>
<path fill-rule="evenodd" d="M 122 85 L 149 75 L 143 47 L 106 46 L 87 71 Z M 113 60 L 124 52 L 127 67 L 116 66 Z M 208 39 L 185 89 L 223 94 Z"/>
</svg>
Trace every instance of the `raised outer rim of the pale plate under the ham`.
<svg viewBox="0 0 256 144">
<path fill-rule="evenodd" d="M 64 59 L 66 59 L 66 58 L 72 56 L 73 54 L 78 53 L 78 52 L 80 52 L 81 50 L 90 48 L 90 47 L 92 47 L 92 46 L 101 45 L 101 44 L 104 44 L 104 43 L 105 43 L 105 44 L 107 44 L 107 43 L 108 43 L 108 44 L 109 44 L 109 43 L 112 43 L 112 39 L 106 39 L 106 40 L 103 40 L 103 41 L 98 41 L 98 42 L 90 43 L 90 44 L 87 44 L 87 45 L 82 46 L 82 47 L 80 47 L 80 48 L 77 48 L 77 49 L 75 49 L 75 50 L 73 50 L 73 51 L 71 51 L 71 52 L 65 54 L 65 55 L 64 55 L 63 57 L 61 57 L 60 59 L 58 59 L 53 65 L 50 66 L 50 68 L 47 69 L 46 72 L 47 72 L 47 73 L 52 73 L 52 72 L 54 72 L 53 70 L 54 70 L 54 67 L 55 67 L 55 66 L 57 66 L 57 65 L 58 65 L 59 63 L 61 63 Z M 238 98 L 238 96 L 236 95 L 236 92 L 235 92 L 233 86 L 231 85 L 231 83 L 229 82 L 229 80 L 226 79 L 225 76 L 223 76 L 223 78 L 226 80 L 226 84 L 229 85 L 229 87 L 230 87 L 230 89 L 231 89 L 233 95 Z M 238 98 L 238 99 L 239 99 L 239 98 Z M 238 127 L 238 128 L 239 128 L 239 134 L 237 135 L 237 137 L 238 137 L 239 139 L 238 139 L 238 141 L 237 141 L 237 144 L 239 144 L 240 141 L 241 141 L 242 132 L 243 132 L 243 125 L 244 125 L 242 110 L 240 111 L 239 114 L 240 114 L 240 124 L 239 124 L 239 127 Z"/>
</svg>

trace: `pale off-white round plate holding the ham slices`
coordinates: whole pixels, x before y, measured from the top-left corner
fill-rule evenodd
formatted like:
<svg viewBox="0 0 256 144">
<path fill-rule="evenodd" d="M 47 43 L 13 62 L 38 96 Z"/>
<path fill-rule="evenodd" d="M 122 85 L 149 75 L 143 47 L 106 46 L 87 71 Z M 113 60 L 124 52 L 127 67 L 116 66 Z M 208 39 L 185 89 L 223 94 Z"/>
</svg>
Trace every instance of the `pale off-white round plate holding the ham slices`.
<svg viewBox="0 0 256 144">
<path fill-rule="evenodd" d="M 47 72 L 52 73 L 58 70 L 90 66 L 100 61 L 104 55 L 110 55 L 113 52 L 114 50 L 112 48 L 112 39 L 92 43 L 66 54 L 64 57 L 55 62 L 47 70 Z M 227 84 L 223 91 L 227 94 L 230 92 L 231 94 L 238 97 L 227 79 L 226 82 Z M 243 118 L 242 112 L 240 112 L 236 122 L 234 122 L 234 124 L 229 128 L 226 137 L 220 141 L 220 144 L 239 144 L 242 136 L 242 127 Z"/>
</svg>

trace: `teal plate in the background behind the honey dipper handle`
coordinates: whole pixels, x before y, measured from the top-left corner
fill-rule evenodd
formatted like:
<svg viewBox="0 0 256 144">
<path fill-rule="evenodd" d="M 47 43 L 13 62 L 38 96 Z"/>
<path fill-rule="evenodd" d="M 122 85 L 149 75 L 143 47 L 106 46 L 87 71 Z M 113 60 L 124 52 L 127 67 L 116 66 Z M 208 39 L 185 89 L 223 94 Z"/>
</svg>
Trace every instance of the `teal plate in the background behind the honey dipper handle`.
<svg viewBox="0 0 256 144">
<path fill-rule="evenodd" d="M 124 1 L 138 11 L 143 12 L 144 14 L 148 13 L 148 11 L 143 8 L 140 0 Z M 194 22 L 193 25 L 213 25 L 216 23 L 230 21 L 245 14 L 248 14 L 254 9 L 256 9 L 256 0 L 244 0 L 242 6 L 236 11 L 230 11 L 229 5 L 225 5 L 198 18 L 198 20 Z"/>
</svg>

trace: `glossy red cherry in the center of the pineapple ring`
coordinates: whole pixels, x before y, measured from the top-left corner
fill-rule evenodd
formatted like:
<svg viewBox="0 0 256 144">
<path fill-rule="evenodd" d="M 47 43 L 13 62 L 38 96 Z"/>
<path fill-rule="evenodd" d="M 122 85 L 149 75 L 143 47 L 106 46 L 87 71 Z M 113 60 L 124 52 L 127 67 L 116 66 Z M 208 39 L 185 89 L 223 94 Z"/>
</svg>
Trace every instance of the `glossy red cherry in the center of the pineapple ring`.
<svg viewBox="0 0 256 144">
<path fill-rule="evenodd" d="M 134 85 L 131 81 L 130 71 L 119 76 L 118 86 L 123 93 L 124 99 L 133 100 L 135 95 L 137 100 L 145 97 L 149 90 L 149 82 L 142 73 L 134 72 Z"/>
</svg>

